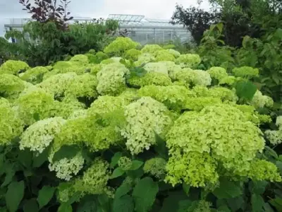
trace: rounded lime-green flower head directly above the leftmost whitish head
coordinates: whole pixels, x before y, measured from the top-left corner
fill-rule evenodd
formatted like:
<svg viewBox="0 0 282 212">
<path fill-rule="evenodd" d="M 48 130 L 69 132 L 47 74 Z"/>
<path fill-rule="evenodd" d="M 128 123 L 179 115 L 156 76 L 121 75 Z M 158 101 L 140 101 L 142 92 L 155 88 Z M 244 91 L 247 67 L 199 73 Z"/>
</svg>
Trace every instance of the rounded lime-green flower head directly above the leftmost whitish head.
<svg viewBox="0 0 282 212">
<path fill-rule="evenodd" d="M 54 107 L 53 95 L 46 93 L 40 88 L 31 88 L 24 91 L 18 100 L 18 113 L 25 124 L 30 125 L 36 122 L 35 117 L 46 119 L 52 107 Z"/>
</svg>

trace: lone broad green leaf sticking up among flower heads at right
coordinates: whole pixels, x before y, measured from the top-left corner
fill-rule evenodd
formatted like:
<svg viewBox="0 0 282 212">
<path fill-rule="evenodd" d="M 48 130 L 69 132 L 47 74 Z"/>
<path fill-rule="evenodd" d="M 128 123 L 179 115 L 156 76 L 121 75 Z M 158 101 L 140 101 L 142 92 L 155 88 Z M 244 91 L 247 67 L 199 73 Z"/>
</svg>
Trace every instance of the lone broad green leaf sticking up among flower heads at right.
<svg viewBox="0 0 282 212">
<path fill-rule="evenodd" d="M 239 81 L 235 88 L 238 97 L 246 100 L 252 100 L 257 91 L 257 87 L 250 81 Z"/>
</svg>

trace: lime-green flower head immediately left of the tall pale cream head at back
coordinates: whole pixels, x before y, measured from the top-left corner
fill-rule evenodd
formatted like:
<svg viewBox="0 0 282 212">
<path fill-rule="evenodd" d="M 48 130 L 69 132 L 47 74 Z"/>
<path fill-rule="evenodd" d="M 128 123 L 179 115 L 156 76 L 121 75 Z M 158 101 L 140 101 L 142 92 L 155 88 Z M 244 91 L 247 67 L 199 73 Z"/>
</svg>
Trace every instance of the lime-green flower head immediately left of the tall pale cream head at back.
<svg viewBox="0 0 282 212">
<path fill-rule="evenodd" d="M 74 98 L 96 98 L 98 81 L 96 76 L 90 73 L 85 73 L 76 76 L 66 88 L 66 95 L 71 95 Z"/>
</svg>

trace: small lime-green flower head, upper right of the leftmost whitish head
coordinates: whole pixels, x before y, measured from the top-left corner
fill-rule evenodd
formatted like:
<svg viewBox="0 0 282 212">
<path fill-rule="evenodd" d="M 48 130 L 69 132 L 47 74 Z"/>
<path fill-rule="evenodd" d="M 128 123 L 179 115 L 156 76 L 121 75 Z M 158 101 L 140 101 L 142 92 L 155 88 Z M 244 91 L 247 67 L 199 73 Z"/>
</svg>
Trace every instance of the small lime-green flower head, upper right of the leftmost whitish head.
<svg viewBox="0 0 282 212">
<path fill-rule="evenodd" d="M 50 110 L 51 117 L 63 117 L 68 119 L 68 117 L 73 114 L 75 110 L 82 110 L 85 108 L 85 104 L 79 102 L 78 99 L 73 97 L 63 98 L 61 102 L 55 100 L 54 105 Z"/>
</svg>

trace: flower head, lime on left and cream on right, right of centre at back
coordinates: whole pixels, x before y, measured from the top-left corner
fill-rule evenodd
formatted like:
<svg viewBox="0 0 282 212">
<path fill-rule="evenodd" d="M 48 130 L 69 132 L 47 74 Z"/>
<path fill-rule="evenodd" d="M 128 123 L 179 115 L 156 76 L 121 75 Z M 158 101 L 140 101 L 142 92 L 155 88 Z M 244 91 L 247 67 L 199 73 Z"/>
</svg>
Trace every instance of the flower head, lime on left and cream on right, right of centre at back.
<svg viewBox="0 0 282 212">
<path fill-rule="evenodd" d="M 188 86 L 210 86 L 212 78 L 207 71 L 183 69 L 176 73 L 176 80 L 183 81 Z"/>
</svg>

